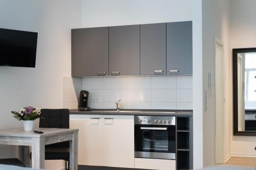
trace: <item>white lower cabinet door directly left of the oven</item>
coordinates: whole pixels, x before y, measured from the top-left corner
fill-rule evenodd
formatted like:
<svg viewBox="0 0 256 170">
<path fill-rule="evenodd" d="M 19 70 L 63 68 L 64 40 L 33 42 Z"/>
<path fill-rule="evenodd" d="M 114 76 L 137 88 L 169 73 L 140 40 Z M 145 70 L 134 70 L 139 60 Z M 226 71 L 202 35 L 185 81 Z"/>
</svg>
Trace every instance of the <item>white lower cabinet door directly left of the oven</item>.
<svg viewBox="0 0 256 170">
<path fill-rule="evenodd" d="M 134 168 L 134 116 L 103 115 L 103 166 Z"/>
</svg>

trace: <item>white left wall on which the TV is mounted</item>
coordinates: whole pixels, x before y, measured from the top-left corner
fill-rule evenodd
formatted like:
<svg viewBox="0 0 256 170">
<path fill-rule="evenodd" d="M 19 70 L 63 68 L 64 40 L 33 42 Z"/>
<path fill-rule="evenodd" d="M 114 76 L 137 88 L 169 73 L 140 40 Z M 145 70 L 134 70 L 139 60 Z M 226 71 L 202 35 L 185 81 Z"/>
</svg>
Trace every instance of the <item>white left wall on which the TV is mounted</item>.
<svg viewBox="0 0 256 170">
<path fill-rule="evenodd" d="M 71 29 L 80 26 L 80 3 L 0 0 L 0 28 L 38 32 L 35 68 L 0 67 L 0 129 L 22 126 L 11 110 L 62 108 L 62 76 L 71 76 Z"/>
</svg>

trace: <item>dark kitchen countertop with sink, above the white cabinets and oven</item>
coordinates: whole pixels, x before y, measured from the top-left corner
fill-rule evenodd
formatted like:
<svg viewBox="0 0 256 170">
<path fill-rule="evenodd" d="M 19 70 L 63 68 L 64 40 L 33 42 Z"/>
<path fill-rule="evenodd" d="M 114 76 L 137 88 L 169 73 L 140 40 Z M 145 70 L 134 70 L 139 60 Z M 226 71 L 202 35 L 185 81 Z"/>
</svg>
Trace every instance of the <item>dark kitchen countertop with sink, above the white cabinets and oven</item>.
<svg viewBox="0 0 256 170">
<path fill-rule="evenodd" d="M 92 111 L 70 110 L 70 114 L 102 114 L 102 115 L 146 115 L 146 116 L 193 116 L 193 110 L 126 110 L 117 112 L 114 109 L 93 109 Z"/>
</svg>

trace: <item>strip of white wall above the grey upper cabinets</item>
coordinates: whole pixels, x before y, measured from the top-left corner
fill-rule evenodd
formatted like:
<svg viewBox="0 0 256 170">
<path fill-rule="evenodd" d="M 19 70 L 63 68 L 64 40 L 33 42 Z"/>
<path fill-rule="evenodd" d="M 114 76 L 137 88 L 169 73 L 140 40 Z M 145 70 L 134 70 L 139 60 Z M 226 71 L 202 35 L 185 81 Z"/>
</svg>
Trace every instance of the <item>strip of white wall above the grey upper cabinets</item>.
<svg viewBox="0 0 256 170">
<path fill-rule="evenodd" d="M 82 0 L 81 27 L 192 20 L 192 0 Z"/>
</svg>

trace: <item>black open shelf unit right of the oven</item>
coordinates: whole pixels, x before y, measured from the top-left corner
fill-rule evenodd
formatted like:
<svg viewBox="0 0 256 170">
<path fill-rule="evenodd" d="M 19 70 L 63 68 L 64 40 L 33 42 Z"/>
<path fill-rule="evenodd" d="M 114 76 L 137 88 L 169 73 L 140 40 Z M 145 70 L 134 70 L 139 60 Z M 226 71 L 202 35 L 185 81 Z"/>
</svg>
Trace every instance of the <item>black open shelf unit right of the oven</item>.
<svg viewBox="0 0 256 170">
<path fill-rule="evenodd" d="M 176 118 L 176 169 L 193 169 L 193 117 Z"/>
</svg>

